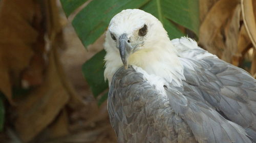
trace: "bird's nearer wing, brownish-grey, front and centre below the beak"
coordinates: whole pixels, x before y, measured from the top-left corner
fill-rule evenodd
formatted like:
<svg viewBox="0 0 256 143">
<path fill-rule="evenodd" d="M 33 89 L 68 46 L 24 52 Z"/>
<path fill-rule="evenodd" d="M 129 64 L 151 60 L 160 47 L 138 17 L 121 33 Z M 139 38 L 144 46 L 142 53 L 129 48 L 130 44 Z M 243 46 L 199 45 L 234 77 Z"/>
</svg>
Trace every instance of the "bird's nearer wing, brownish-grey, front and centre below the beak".
<svg viewBox="0 0 256 143">
<path fill-rule="evenodd" d="M 132 67 L 116 72 L 108 110 L 119 142 L 251 142 L 210 105 L 183 95 L 183 88 L 165 87 L 157 91 Z"/>
</svg>

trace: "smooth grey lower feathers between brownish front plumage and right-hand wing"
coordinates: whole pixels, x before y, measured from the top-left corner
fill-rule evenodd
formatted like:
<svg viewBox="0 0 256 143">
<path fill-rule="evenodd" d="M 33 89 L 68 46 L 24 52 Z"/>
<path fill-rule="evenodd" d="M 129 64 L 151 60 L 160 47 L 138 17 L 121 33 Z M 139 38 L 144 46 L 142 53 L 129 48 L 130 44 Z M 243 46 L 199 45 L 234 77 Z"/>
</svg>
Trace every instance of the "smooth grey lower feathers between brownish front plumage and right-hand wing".
<svg viewBox="0 0 256 143">
<path fill-rule="evenodd" d="M 251 142 L 245 130 L 202 102 L 185 97 L 168 87 L 169 102 L 184 119 L 198 142 Z"/>
</svg>

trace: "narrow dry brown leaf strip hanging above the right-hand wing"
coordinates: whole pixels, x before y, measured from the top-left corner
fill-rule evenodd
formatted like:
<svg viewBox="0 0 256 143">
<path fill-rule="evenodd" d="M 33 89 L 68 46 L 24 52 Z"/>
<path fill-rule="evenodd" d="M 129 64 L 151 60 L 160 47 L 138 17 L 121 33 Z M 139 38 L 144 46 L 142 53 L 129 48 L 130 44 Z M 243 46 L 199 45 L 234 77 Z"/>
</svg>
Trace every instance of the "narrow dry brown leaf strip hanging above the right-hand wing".
<svg viewBox="0 0 256 143">
<path fill-rule="evenodd" d="M 225 32 L 225 48 L 222 53 L 221 59 L 231 63 L 232 56 L 238 50 L 238 34 L 240 28 L 240 16 L 241 16 L 241 6 L 240 4 L 234 9 L 232 16 L 229 18 L 228 23 L 224 28 Z"/>
</svg>

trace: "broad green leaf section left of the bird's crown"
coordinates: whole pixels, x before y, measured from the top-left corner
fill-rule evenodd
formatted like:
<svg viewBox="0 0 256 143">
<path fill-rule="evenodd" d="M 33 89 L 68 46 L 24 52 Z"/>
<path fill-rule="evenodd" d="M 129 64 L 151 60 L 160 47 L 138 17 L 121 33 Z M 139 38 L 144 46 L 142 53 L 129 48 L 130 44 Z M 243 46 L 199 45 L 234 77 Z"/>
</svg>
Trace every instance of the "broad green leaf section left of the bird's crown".
<svg viewBox="0 0 256 143">
<path fill-rule="evenodd" d="M 146 2 L 146 0 L 94 0 L 75 16 L 72 24 L 83 45 L 87 47 L 106 31 L 114 15 L 123 9 L 139 8 Z"/>
</svg>

